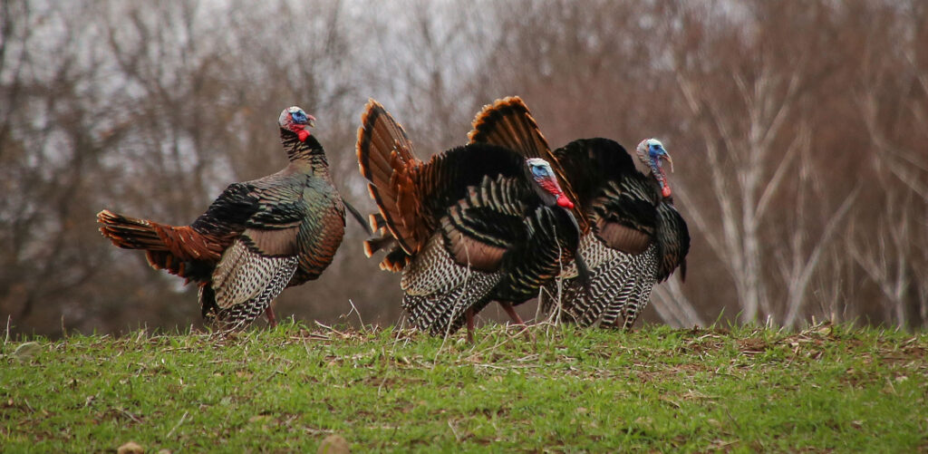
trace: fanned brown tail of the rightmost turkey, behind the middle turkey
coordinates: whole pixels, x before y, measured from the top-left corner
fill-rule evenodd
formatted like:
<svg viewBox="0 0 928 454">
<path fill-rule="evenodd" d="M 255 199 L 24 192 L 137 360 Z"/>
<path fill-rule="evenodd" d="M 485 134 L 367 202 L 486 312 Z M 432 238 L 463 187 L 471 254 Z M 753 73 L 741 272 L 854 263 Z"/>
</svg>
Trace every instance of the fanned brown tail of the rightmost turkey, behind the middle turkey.
<svg viewBox="0 0 928 454">
<path fill-rule="evenodd" d="M 568 199 L 574 202 L 574 214 L 584 231 L 589 229 L 583 208 L 577 200 L 574 188 L 571 186 L 563 167 L 551 153 L 548 140 L 535 118 L 528 110 L 528 106 L 521 97 L 504 97 L 496 99 L 493 104 L 483 106 L 473 119 L 473 129 L 468 133 L 470 143 L 488 143 L 498 145 L 518 152 L 526 158 L 541 158 L 550 162 L 554 172 L 561 180 L 561 189 Z"/>
</svg>

